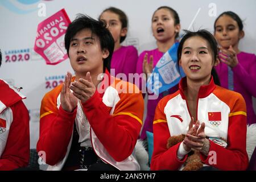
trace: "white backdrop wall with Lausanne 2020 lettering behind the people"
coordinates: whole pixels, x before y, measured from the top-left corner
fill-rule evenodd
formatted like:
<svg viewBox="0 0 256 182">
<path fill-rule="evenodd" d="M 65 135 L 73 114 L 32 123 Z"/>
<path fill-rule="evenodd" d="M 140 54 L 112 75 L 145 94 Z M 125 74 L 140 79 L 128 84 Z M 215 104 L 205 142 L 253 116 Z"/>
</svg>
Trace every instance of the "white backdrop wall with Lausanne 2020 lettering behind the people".
<svg viewBox="0 0 256 182">
<path fill-rule="evenodd" d="M 0 1 L 0 49 L 3 53 L 0 78 L 17 87 L 22 86 L 21 92 L 27 96 L 24 103 L 31 117 L 31 148 L 36 147 L 39 137 L 39 109 L 42 97 L 63 80 L 67 71 L 72 72 L 69 60 L 57 65 L 46 65 L 46 61 L 33 51 L 38 24 L 63 8 L 73 20 L 78 13 L 98 18 L 105 8 L 118 7 L 125 11 L 129 18 L 129 32 L 124 44 L 133 44 L 140 53 L 144 49 L 155 47 L 151 32 L 151 16 L 156 8 L 163 5 L 177 11 L 182 29 L 187 29 L 197 14 L 192 30 L 207 28 L 213 31 L 214 20 L 219 14 L 228 10 L 236 12 L 245 26 L 245 38 L 240 42 L 240 49 L 256 53 L 255 0 Z"/>
</svg>

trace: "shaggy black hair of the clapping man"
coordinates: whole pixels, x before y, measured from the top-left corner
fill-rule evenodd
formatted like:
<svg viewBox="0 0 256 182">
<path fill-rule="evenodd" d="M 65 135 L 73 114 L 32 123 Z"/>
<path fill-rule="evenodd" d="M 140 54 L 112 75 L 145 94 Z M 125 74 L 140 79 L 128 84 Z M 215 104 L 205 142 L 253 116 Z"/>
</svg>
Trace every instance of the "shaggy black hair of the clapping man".
<svg viewBox="0 0 256 182">
<path fill-rule="evenodd" d="M 112 59 L 114 51 L 114 39 L 110 34 L 108 28 L 106 28 L 106 23 L 95 20 L 88 15 L 78 14 L 76 19 L 69 24 L 66 34 L 65 34 L 65 49 L 69 56 L 69 46 L 71 40 L 74 36 L 81 30 L 89 29 L 92 31 L 92 37 L 97 36 L 100 40 L 101 50 L 107 49 L 109 51 L 109 56 L 104 59 L 103 66 L 110 71 L 110 61 Z"/>
</svg>

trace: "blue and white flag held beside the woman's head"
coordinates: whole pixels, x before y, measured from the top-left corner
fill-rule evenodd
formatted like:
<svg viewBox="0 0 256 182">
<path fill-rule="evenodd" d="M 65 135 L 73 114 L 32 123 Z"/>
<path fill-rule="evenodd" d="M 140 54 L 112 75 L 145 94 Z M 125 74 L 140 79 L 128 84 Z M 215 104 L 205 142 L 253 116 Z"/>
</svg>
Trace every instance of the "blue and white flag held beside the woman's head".
<svg viewBox="0 0 256 182">
<path fill-rule="evenodd" d="M 175 43 L 156 64 L 151 76 L 147 80 L 147 88 L 159 95 L 179 83 L 181 77 L 185 76 L 183 69 L 177 61 L 177 48 Z"/>
</svg>

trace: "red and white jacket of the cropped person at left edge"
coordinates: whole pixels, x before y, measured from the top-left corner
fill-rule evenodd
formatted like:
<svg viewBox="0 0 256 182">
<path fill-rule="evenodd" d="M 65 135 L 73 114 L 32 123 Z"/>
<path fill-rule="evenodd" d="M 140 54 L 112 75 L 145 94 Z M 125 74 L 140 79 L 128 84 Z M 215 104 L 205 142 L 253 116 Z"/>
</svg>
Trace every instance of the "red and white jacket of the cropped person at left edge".
<svg viewBox="0 0 256 182">
<path fill-rule="evenodd" d="M 30 118 L 23 98 L 26 97 L 0 79 L 0 171 L 28 165 Z"/>
</svg>

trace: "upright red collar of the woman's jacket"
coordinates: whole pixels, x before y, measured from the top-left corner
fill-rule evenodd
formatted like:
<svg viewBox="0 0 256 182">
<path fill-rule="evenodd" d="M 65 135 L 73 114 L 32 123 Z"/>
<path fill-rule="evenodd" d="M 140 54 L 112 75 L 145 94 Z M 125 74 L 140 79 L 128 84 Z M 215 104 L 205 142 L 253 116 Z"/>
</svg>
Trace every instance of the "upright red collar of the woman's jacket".
<svg viewBox="0 0 256 182">
<path fill-rule="evenodd" d="M 181 80 L 179 82 L 180 94 L 184 100 L 185 100 L 185 94 L 184 94 L 185 88 L 187 88 L 187 77 L 181 78 Z M 215 88 L 216 88 L 216 85 L 214 84 L 213 77 L 211 76 L 209 85 L 200 86 L 197 98 L 208 97 L 209 94 L 212 93 Z"/>
</svg>

